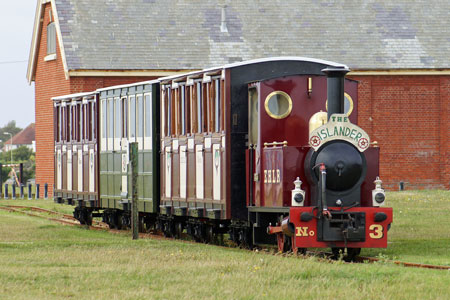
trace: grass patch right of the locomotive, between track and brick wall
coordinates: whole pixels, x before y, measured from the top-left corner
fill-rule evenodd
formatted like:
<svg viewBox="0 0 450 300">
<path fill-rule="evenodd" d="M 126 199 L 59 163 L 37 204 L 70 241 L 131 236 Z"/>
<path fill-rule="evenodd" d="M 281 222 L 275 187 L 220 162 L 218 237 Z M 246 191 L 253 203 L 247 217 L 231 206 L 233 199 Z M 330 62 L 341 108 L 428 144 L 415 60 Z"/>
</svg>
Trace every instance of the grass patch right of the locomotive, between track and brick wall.
<svg viewBox="0 0 450 300">
<path fill-rule="evenodd" d="M 450 192 L 390 192 L 386 199 L 394 210 L 388 248 L 363 249 L 362 255 L 449 266 Z"/>
</svg>

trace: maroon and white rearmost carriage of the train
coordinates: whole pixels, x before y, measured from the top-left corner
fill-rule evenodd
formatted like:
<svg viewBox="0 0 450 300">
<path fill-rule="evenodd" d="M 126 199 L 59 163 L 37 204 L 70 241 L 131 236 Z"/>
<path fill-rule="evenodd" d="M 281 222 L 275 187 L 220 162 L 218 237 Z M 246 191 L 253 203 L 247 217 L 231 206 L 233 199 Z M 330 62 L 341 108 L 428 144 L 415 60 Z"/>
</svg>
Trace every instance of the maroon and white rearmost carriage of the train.
<svg viewBox="0 0 450 300">
<path fill-rule="evenodd" d="M 98 207 L 96 97 L 90 92 L 53 98 L 56 202 Z"/>
</svg>

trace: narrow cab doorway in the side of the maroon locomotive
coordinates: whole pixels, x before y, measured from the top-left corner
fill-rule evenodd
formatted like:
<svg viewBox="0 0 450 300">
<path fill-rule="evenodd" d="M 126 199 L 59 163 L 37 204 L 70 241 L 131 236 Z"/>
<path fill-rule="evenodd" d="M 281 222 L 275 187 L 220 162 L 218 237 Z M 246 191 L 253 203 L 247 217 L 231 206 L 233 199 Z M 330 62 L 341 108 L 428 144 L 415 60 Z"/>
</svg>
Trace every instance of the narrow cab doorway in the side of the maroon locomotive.
<svg viewBox="0 0 450 300">
<path fill-rule="evenodd" d="M 249 203 L 248 206 L 253 206 L 259 200 L 259 193 L 256 193 L 258 185 L 256 182 L 260 177 L 259 151 L 258 147 L 258 132 L 259 132 L 259 110 L 258 97 L 259 85 L 252 84 L 248 89 L 248 186 L 249 186 Z M 258 195 L 256 195 L 258 194 Z M 259 201 L 258 201 L 259 202 Z"/>
</svg>

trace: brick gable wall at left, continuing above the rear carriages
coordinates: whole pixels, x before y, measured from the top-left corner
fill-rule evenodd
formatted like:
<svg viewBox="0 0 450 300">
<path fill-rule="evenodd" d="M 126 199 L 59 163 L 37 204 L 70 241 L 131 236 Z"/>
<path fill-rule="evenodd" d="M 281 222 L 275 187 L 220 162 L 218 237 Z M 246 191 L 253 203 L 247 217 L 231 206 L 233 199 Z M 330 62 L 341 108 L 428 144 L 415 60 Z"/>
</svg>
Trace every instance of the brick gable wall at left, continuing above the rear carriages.
<svg viewBox="0 0 450 300">
<path fill-rule="evenodd" d="M 72 77 L 69 80 L 66 80 L 59 45 L 56 47 L 56 60 L 44 61 L 44 58 L 47 56 L 47 24 L 49 23 L 49 10 L 50 3 L 45 6 L 35 74 L 36 183 L 41 185 L 40 197 L 44 196 L 45 183 L 49 184 L 49 197 L 52 197 L 53 194 L 54 140 L 53 103 L 51 98 L 155 78 Z"/>
</svg>

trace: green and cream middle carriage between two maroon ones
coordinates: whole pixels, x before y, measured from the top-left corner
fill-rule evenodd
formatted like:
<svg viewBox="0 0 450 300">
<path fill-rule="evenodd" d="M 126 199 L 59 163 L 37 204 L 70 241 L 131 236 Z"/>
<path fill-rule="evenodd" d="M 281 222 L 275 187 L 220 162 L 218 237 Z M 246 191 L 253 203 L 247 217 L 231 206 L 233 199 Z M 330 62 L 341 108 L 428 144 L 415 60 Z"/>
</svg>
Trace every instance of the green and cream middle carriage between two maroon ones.
<svg viewBox="0 0 450 300">
<path fill-rule="evenodd" d="M 159 210 L 159 82 L 113 86 L 97 93 L 103 219 L 113 228 L 130 225 L 128 145 L 137 142 L 138 210 L 141 221 L 150 222 Z"/>
</svg>

